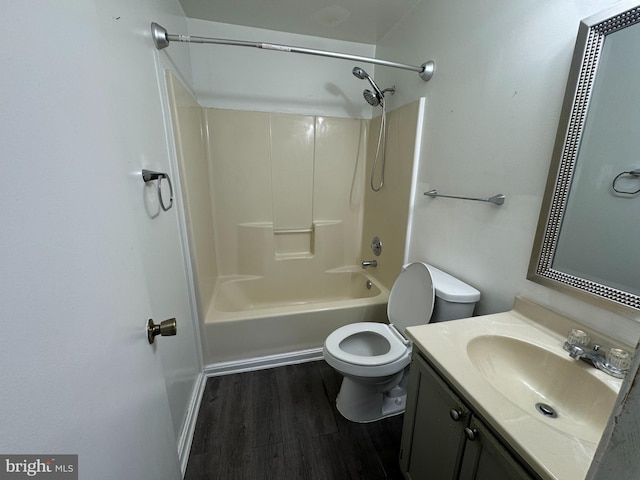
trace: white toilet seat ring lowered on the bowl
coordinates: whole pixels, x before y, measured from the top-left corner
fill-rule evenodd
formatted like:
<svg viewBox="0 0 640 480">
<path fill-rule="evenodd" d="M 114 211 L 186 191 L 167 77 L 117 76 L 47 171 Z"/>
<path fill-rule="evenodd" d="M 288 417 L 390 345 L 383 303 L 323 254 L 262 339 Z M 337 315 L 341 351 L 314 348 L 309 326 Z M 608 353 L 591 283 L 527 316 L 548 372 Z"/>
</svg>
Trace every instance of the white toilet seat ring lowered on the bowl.
<svg viewBox="0 0 640 480">
<path fill-rule="evenodd" d="M 359 339 L 363 340 L 362 344 Z M 368 351 L 366 347 L 370 347 Z M 325 349 L 342 362 L 373 367 L 398 360 L 407 353 L 408 347 L 387 324 L 357 322 L 334 330 L 325 340 Z"/>
</svg>

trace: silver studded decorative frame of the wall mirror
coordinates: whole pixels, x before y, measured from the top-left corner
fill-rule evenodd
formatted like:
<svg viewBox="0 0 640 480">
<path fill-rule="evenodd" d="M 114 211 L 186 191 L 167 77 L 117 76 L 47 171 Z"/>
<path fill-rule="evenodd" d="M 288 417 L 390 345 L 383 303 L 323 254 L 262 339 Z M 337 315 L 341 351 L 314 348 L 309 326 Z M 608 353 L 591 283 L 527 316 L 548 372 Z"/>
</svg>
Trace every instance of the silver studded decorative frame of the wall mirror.
<svg viewBox="0 0 640 480">
<path fill-rule="evenodd" d="M 582 140 L 602 46 L 607 35 L 640 22 L 638 1 L 627 1 L 580 22 L 560 115 L 528 279 L 605 308 L 638 316 L 640 296 L 552 268 Z"/>
</svg>

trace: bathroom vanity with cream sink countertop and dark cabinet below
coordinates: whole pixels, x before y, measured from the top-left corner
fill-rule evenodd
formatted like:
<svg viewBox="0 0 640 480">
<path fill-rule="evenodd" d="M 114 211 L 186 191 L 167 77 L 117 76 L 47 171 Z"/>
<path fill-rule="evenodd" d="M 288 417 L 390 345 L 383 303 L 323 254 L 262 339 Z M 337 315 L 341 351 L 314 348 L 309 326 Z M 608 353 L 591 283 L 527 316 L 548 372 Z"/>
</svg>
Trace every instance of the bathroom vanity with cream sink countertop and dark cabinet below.
<svg viewBox="0 0 640 480">
<path fill-rule="evenodd" d="M 518 298 L 509 312 L 407 329 L 405 478 L 583 479 L 622 380 L 563 350 L 575 326 Z"/>
</svg>

